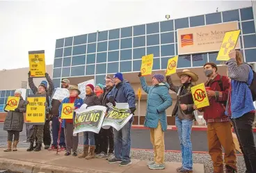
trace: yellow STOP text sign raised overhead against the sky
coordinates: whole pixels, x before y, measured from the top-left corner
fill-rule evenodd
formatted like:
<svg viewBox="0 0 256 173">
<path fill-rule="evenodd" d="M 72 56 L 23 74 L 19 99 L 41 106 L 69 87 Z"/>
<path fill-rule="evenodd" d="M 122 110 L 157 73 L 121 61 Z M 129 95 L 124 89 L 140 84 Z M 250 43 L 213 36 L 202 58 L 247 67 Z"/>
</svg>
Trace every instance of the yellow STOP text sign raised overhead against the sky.
<svg viewBox="0 0 256 173">
<path fill-rule="evenodd" d="M 45 51 L 29 51 L 31 77 L 45 77 Z"/>
</svg>

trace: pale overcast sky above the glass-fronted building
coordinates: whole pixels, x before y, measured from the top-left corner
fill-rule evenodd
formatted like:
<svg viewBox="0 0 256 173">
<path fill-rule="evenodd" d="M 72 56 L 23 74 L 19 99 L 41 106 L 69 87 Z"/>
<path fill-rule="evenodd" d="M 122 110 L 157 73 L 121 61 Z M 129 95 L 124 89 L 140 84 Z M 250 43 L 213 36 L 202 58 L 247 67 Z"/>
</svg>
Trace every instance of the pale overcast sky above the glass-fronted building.
<svg viewBox="0 0 256 173">
<path fill-rule="evenodd" d="M 53 64 L 58 38 L 251 6 L 251 1 L 1 1 L 0 70 L 29 66 L 28 51 Z"/>
</svg>

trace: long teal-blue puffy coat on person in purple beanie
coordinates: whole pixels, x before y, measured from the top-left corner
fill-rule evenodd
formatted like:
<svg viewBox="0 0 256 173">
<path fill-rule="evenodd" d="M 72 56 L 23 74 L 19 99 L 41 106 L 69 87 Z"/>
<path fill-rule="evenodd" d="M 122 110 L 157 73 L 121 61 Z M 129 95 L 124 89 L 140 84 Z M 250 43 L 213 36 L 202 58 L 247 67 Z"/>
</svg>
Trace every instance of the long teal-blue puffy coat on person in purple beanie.
<svg viewBox="0 0 256 173">
<path fill-rule="evenodd" d="M 167 130 L 166 109 L 173 104 L 170 97 L 168 83 L 159 83 L 158 85 L 147 86 L 144 77 L 140 77 L 141 87 L 147 93 L 147 112 L 145 115 L 144 126 L 157 128 L 158 122 L 161 122 L 162 131 Z"/>
</svg>

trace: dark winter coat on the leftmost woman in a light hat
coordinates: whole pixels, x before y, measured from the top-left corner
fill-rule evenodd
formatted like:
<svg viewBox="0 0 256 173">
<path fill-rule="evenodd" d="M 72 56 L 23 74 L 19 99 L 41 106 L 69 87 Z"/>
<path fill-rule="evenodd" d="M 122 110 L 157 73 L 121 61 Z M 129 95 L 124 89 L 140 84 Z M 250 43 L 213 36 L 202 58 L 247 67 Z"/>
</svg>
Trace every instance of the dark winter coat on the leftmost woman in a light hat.
<svg viewBox="0 0 256 173">
<path fill-rule="evenodd" d="M 19 112 L 16 111 L 8 111 L 6 115 L 6 120 L 3 124 L 3 130 L 4 131 L 22 131 L 23 130 L 23 124 L 24 124 L 24 117 L 23 113 L 26 112 L 26 105 L 27 102 L 24 101 L 22 97 L 19 99 Z"/>
</svg>

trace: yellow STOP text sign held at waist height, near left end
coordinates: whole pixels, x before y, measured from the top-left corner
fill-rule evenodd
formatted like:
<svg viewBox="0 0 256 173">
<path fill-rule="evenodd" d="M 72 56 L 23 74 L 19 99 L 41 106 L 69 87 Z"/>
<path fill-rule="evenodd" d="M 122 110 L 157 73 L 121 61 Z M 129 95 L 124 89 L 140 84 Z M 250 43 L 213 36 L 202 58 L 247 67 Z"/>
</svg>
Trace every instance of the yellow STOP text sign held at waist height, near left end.
<svg viewBox="0 0 256 173">
<path fill-rule="evenodd" d="M 46 97 L 29 95 L 29 104 L 26 105 L 26 123 L 44 124 L 45 123 L 45 102 Z"/>
</svg>

